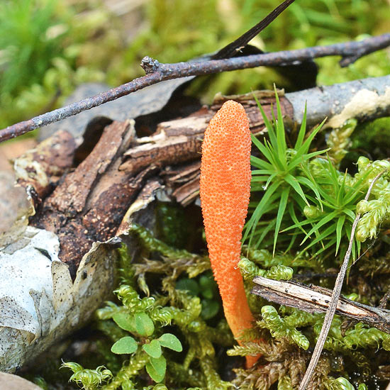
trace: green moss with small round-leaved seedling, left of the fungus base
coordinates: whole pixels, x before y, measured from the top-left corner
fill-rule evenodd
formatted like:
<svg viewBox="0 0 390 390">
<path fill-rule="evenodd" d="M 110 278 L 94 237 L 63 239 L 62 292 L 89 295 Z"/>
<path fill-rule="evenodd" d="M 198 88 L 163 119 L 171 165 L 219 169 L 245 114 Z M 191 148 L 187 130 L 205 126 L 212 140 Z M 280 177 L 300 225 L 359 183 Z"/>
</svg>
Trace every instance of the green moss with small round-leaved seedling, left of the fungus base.
<svg viewBox="0 0 390 390">
<path fill-rule="evenodd" d="M 147 374 L 155 381 L 164 379 L 168 388 L 177 386 L 177 381 L 181 389 L 189 386 L 201 386 L 205 390 L 232 387 L 229 382 L 221 380 L 216 371 L 216 347 L 233 345 L 233 337 L 225 320 L 216 318 L 213 324 L 206 323 L 202 316 L 203 307 L 199 296 L 191 296 L 189 291 L 176 289 L 175 286 L 175 280 L 180 273 L 186 274 L 187 277 L 196 276 L 198 262 L 206 262 L 206 259 L 169 247 L 153 238 L 140 225 L 134 225 L 130 230 L 140 239 L 145 250 L 149 253 L 158 252 L 163 257 L 162 260 L 148 260 L 146 264 L 130 266 L 130 258 L 122 248 L 120 252 L 123 280 L 133 281 L 134 286 L 135 278 L 140 274 L 157 272 L 162 276 L 162 291 L 165 291 L 165 294 L 156 291 L 156 294 L 150 296 L 140 296 L 133 286 L 121 284 L 115 291 L 118 303 L 108 302 L 104 308 L 97 311 L 99 321 L 96 327 L 108 337 L 106 344 L 113 345 L 111 351 L 114 352 L 111 352 L 114 357 L 109 356 L 108 349 L 101 343 L 99 350 L 104 354 L 107 366 L 113 374 L 112 379 L 104 377 L 108 383 L 101 389 L 139 389 L 147 383 L 147 379 L 143 379 L 147 378 Z M 189 265 L 192 268 L 189 268 Z M 203 266 L 198 271 L 201 272 L 202 269 Z M 176 273 L 177 276 L 174 276 Z M 211 294 L 208 298 L 213 299 L 216 289 L 209 275 L 201 275 L 196 280 L 203 289 L 201 296 Z M 164 330 L 167 325 L 170 333 Z M 165 338 L 171 340 L 171 344 L 167 345 Z M 177 341 L 172 344 L 172 340 Z M 156 349 L 157 344 L 161 346 Z M 183 352 L 180 352 L 180 344 L 184 346 Z M 170 347 L 178 352 L 166 352 L 166 348 L 161 351 L 161 347 Z M 122 356 L 129 357 L 130 360 L 123 359 Z M 152 369 L 152 365 L 157 364 L 153 359 L 167 360 L 167 372 L 165 366 Z M 85 389 L 97 389 L 99 381 L 103 381 L 100 376 L 102 369 L 94 371 L 74 364 L 65 365 L 74 368 L 72 380 L 78 381 Z M 194 381 L 194 378 L 198 380 Z"/>
</svg>

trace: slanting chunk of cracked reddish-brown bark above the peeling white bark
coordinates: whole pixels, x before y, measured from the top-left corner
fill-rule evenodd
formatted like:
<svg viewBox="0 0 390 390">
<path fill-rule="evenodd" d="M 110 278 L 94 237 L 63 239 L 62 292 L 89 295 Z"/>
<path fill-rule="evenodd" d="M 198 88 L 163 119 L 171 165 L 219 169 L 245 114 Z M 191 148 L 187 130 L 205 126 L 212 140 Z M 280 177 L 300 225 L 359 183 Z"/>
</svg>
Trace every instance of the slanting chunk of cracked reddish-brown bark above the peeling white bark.
<svg viewBox="0 0 390 390">
<path fill-rule="evenodd" d="M 56 233 L 60 258 L 75 276 L 82 256 L 96 241 L 114 237 L 135 189 L 146 173 L 118 171 L 134 136 L 133 124 L 107 126 L 91 154 L 43 201 L 31 225 Z"/>
</svg>

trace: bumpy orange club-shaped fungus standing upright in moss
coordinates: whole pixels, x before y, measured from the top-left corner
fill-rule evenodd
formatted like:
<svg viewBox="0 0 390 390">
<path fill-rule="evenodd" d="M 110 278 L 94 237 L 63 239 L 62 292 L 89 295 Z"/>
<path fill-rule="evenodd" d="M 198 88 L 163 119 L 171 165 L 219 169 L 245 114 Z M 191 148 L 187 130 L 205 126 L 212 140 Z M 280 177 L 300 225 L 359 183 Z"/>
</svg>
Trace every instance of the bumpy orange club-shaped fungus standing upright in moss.
<svg viewBox="0 0 390 390">
<path fill-rule="evenodd" d="M 254 318 L 238 269 L 241 238 L 250 197 L 250 129 L 241 104 L 226 101 L 204 134 L 201 207 L 208 253 L 223 310 L 238 342 Z M 247 367 L 257 357 L 247 356 Z"/>
</svg>

